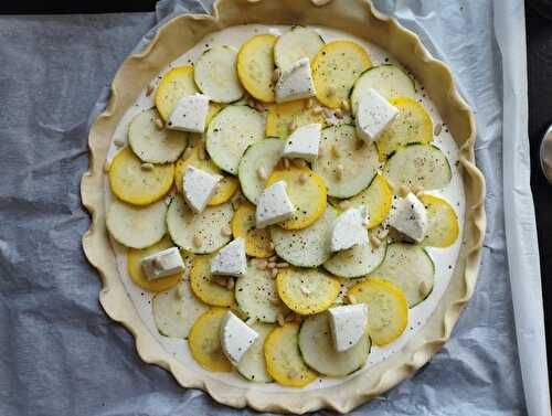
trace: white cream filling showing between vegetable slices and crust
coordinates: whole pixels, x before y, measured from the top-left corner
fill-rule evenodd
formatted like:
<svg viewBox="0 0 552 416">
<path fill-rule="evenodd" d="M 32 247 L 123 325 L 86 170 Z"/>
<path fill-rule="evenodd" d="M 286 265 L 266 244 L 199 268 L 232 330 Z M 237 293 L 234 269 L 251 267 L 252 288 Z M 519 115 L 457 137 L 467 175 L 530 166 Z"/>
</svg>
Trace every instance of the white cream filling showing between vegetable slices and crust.
<svg viewBox="0 0 552 416">
<path fill-rule="evenodd" d="M 216 33 L 212 33 L 208 35 L 205 39 L 203 39 L 201 42 L 199 42 L 193 49 L 188 51 L 185 54 L 180 56 L 178 60 L 172 62 L 168 67 L 166 67 L 159 75 L 162 75 L 164 72 L 169 71 L 170 68 L 174 66 L 180 66 L 180 65 L 189 65 L 190 63 L 197 62 L 198 57 L 203 53 L 204 50 L 213 46 L 213 45 L 231 45 L 236 49 L 241 46 L 241 44 L 246 41 L 247 39 L 256 35 L 256 34 L 262 34 L 262 33 L 273 33 L 276 35 L 282 34 L 286 30 L 288 30 L 288 25 L 274 25 L 274 26 L 268 26 L 268 25 L 261 25 L 261 24 L 248 24 L 248 25 L 240 25 L 240 26 L 233 26 L 233 28 L 227 28 L 225 30 L 222 30 Z M 314 26 L 322 39 L 326 42 L 338 40 L 338 39 L 350 39 L 353 40 L 354 42 L 358 42 L 359 44 L 363 45 L 370 53 L 370 57 L 372 60 L 373 65 L 380 65 L 384 63 L 390 63 L 390 64 L 395 64 L 401 66 L 395 58 L 390 56 L 388 53 L 385 53 L 382 49 L 380 49 L 376 45 L 373 45 L 367 41 L 363 41 L 357 36 L 350 35 L 348 33 L 341 32 L 341 31 L 336 31 L 332 29 L 328 28 L 321 28 L 321 26 Z M 157 86 L 159 83 L 159 78 L 156 77 L 153 81 L 153 85 Z M 416 84 L 416 89 L 417 89 L 417 97 L 418 99 L 422 100 L 423 105 L 429 113 L 429 115 L 433 118 L 434 125 L 440 125 L 443 124 L 443 120 L 437 113 L 434 104 L 432 100 L 424 94 L 424 92 L 420 88 L 420 85 Z M 127 130 L 128 130 L 128 122 L 129 120 L 138 113 L 144 111 L 147 108 L 153 107 L 153 94 L 151 94 L 149 97 L 146 96 L 146 88 L 141 92 L 139 98 L 136 100 L 136 104 L 131 106 L 125 116 L 123 117 L 121 121 L 119 122 L 115 135 L 114 135 L 114 141 L 115 140 L 120 140 L 124 142 L 127 142 Z M 384 361 L 386 358 L 390 355 L 394 354 L 395 352 L 400 351 L 412 338 L 416 334 L 418 328 L 421 328 L 424 322 L 429 318 L 429 316 L 433 313 L 433 311 L 437 308 L 438 302 L 445 292 L 446 288 L 448 287 L 448 284 L 450 281 L 450 278 L 454 273 L 454 266 L 456 264 L 458 253 L 460 249 L 460 245 L 463 242 L 464 237 L 464 218 L 465 218 L 465 195 L 464 195 L 464 183 L 461 180 L 461 172 L 460 172 L 460 167 L 458 163 L 459 159 L 459 152 L 458 152 L 458 147 L 456 146 L 456 142 L 454 141 L 453 137 L 446 129 L 446 126 L 443 126 L 443 129 L 438 136 L 434 138 L 433 145 L 437 146 L 440 148 L 444 153 L 447 156 L 452 171 L 453 171 L 453 179 L 450 183 L 445 188 L 439 191 L 432 191 L 428 192 L 431 194 L 434 194 L 436 196 L 444 198 L 447 200 L 450 205 L 455 209 L 456 214 L 458 216 L 459 225 L 460 225 L 460 235 L 456 243 L 452 245 L 450 247 L 446 248 L 434 248 L 434 247 L 428 247 L 427 253 L 432 256 L 433 262 L 435 263 L 435 286 L 433 288 L 432 294 L 429 297 L 424 300 L 422 303 L 417 305 L 416 307 L 410 309 L 408 312 L 408 326 L 406 330 L 403 332 L 403 334 L 393 341 L 392 343 L 385 345 L 385 346 L 372 346 L 372 350 L 370 352 L 369 359 L 367 364 L 364 365 L 363 369 L 361 369 L 359 372 L 367 372 L 370 371 L 371 367 L 373 367 L 375 364 Z M 107 160 L 110 160 L 113 156 L 116 153 L 118 148 L 112 142 L 112 146 L 109 148 L 108 154 L 107 154 Z M 110 202 L 113 201 L 114 196 L 113 194 L 108 191 L 109 190 L 109 182 L 107 175 L 105 177 L 105 190 L 106 190 L 106 195 L 105 195 L 105 201 L 106 201 L 106 206 L 109 206 Z M 203 375 L 212 378 L 216 378 L 219 381 L 223 381 L 227 384 L 234 385 L 234 386 L 241 386 L 241 387 L 246 387 L 246 388 L 255 388 L 257 391 L 263 391 L 263 392 L 282 392 L 282 391 L 287 391 L 287 392 L 294 392 L 294 393 L 299 393 L 302 391 L 309 391 L 309 390 L 317 390 L 317 388 L 325 388 L 329 386 L 333 386 L 337 384 L 342 383 L 344 380 L 348 377 L 353 377 L 355 376 L 357 373 L 353 373 L 352 375 L 348 377 L 341 377 L 341 378 L 326 378 L 322 377 L 320 380 L 317 380 L 312 383 L 310 383 L 308 386 L 297 390 L 297 388 L 291 388 L 291 387 L 285 387 L 280 386 L 276 383 L 272 384 L 262 384 L 262 383 L 252 383 L 246 381 L 245 378 L 241 377 L 236 372 L 234 373 L 213 373 L 209 372 L 206 370 L 203 370 L 190 354 L 190 350 L 188 348 L 188 342 L 181 339 L 171 339 L 161 335 L 155 324 L 153 321 L 153 316 L 151 312 L 151 298 L 153 297 L 153 294 L 149 294 L 138 286 L 136 286 L 132 280 L 130 279 L 130 276 L 128 275 L 127 271 L 127 253 L 126 248 L 118 243 L 114 242 L 112 239 L 112 244 L 114 247 L 114 250 L 116 253 L 116 258 L 117 258 L 117 266 L 119 274 L 121 276 L 123 284 L 127 290 L 128 296 L 132 300 L 132 303 L 136 307 L 136 310 L 138 311 L 138 314 L 140 316 L 141 320 L 146 324 L 146 327 L 149 329 L 151 334 L 153 335 L 155 339 L 159 341 L 159 343 L 169 352 L 171 353 L 176 360 L 181 362 L 183 365 L 185 365 L 189 369 L 194 369 L 195 371 L 202 373 Z"/>
</svg>

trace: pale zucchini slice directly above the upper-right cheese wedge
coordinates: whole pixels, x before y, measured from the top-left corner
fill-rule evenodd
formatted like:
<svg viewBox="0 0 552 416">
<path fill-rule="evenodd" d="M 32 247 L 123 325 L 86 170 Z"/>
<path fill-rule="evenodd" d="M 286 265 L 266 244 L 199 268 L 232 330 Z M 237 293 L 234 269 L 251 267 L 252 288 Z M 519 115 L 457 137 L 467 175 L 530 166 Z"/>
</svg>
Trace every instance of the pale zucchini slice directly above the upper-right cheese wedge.
<svg viewBox="0 0 552 416">
<path fill-rule="evenodd" d="M 375 89 L 388 99 L 415 98 L 414 81 L 396 65 L 385 64 L 371 67 L 362 73 L 351 92 L 352 114 L 357 114 L 360 98 L 369 90 Z"/>
</svg>

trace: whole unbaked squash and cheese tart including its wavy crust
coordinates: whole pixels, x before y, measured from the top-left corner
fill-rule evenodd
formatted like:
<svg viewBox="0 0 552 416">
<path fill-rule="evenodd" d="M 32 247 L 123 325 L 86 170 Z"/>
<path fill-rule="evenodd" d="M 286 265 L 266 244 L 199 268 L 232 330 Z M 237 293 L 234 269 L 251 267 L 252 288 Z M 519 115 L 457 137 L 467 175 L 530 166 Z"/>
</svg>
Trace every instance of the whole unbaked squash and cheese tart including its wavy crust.
<svg viewBox="0 0 552 416">
<path fill-rule="evenodd" d="M 100 302 L 217 402 L 348 412 L 427 362 L 473 294 L 474 129 L 447 67 L 363 1 L 177 17 L 91 130 Z"/>
</svg>

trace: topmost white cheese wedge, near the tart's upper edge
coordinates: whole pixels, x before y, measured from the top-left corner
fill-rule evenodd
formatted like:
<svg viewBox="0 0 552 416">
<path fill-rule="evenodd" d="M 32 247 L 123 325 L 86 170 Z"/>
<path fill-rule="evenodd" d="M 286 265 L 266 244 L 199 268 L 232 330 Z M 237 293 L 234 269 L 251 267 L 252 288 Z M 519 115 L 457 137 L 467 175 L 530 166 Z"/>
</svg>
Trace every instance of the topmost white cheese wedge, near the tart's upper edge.
<svg viewBox="0 0 552 416">
<path fill-rule="evenodd" d="M 300 58 L 282 73 L 276 83 L 276 103 L 293 102 L 315 96 L 315 83 L 308 57 Z"/>
</svg>

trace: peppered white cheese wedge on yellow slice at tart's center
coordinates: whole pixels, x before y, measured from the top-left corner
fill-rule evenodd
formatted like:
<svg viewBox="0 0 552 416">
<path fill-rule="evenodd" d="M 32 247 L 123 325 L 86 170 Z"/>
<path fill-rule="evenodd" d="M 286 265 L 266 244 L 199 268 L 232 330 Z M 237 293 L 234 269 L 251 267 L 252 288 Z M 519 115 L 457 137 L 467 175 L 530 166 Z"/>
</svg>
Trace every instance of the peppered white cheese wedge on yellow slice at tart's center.
<svg viewBox="0 0 552 416">
<path fill-rule="evenodd" d="M 257 228 L 280 223 L 294 215 L 295 206 L 287 195 L 286 186 L 286 182 L 278 181 L 258 195 L 255 211 Z"/>
</svg>

